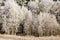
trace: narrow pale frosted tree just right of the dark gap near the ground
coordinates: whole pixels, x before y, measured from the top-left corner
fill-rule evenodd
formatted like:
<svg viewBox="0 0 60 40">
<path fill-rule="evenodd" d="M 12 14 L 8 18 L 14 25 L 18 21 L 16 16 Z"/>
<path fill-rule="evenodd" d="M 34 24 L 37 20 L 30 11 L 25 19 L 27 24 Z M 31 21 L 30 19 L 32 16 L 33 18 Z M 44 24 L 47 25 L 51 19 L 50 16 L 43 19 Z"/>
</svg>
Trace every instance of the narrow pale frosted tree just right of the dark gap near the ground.
<svg viewBox="0 0 60 40">
<path fill-rule="evenodd" d="M 24 21 L 24 33 L 26 35 L 31 35 L 31 23 L 32 23 L 32 13 L 31 11 L 27 11 L 28 15 Z"/>
</svg>

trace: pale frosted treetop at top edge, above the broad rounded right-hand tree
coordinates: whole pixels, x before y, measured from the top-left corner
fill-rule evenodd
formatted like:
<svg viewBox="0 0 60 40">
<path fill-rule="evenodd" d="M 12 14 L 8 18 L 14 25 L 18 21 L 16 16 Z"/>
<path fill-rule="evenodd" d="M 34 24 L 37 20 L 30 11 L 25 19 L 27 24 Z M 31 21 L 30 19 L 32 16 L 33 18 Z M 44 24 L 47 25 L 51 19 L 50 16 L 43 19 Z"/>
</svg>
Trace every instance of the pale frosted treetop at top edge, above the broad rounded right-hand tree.
<svg viewBox="0 0 60 40">
<path fill-rule="evenodd" d="M 39 8 L 42 12 L 49 12 L 53 4 L 54 2 L 51 0 L 41 0 L 39 3 Z"/>
</svg>

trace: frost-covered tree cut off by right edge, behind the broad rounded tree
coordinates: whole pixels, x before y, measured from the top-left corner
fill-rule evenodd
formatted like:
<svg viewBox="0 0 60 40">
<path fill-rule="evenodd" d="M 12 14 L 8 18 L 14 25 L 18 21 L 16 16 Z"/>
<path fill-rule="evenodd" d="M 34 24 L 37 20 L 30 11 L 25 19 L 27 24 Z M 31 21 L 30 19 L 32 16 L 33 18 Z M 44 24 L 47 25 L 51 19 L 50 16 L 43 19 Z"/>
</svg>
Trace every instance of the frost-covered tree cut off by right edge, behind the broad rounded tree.
<svg viewBox="0 0 60 40">
<path fill-rule="evenodd" d="M 60 23 L 60 3 L 56 2 L 50 9 L 50 13 L 56 16 L 58 23 Z"/>
</svg>

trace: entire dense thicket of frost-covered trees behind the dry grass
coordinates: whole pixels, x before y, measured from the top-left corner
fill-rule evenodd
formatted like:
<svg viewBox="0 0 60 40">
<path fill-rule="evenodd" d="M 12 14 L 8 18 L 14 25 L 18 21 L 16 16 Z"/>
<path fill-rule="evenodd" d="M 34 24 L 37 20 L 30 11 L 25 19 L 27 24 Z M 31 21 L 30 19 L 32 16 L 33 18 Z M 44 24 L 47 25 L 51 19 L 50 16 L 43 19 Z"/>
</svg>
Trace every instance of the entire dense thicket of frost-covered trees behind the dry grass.
<svg viewBox="0 0 60 40">
<path fill-rule="evenodd" d="M 6 34 L 60 34 L 60 3 L 52 0 L 0 0 L 0 31 Z"/>
</svg>

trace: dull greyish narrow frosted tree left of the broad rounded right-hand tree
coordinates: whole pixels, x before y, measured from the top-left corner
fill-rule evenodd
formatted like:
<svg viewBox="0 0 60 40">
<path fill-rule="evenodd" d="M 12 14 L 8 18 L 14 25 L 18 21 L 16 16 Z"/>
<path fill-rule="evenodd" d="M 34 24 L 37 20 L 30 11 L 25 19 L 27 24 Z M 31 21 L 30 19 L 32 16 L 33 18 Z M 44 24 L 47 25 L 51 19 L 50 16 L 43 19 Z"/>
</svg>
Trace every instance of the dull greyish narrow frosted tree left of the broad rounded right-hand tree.
<svg viewBox="0 0 60 40">
<path fill-rule="evenodd" d="M 38 26 L 39 26 L 39 21 L 38 21 L 38 15 L 37 14 L 32 14 L 32 34 L 34 36 L 38 36 Z"/>
</svg>

